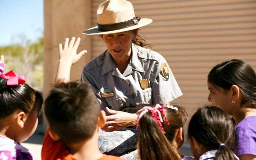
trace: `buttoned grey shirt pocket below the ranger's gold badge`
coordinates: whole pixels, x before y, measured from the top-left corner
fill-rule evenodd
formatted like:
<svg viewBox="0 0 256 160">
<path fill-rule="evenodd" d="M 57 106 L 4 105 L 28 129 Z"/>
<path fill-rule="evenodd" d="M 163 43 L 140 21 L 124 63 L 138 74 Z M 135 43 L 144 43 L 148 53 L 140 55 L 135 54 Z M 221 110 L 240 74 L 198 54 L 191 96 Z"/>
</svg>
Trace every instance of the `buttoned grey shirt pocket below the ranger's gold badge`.
<svg viewBox="0 0 256 160">
<path fill-rule="evenodd" d="M 141 92 L 136 93 L 136 105 L 151 104 L 152 89 L 146 88 Z"/>
</svg>

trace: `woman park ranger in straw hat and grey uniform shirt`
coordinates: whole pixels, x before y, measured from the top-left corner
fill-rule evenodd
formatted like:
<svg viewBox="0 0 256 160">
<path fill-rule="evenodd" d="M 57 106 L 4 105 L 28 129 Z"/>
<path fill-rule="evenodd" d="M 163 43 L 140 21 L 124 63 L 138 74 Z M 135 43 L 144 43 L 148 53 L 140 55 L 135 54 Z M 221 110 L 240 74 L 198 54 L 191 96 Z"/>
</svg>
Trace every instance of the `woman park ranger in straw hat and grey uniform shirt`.
<svg viewBox="0 0 256 160">
<path fill-rule="evenodd" d="M 81 73 L 108 115 L 104 131 L 136 126 L 139 109 L 169 104 L 182 95 L 164 57 L 138 33 L 151 22 L 135 16 L 127 0 L 106 0 L 97 9 L 97 26 L 83 32 L 99 35 L 107 48 Z"/>
</svg>

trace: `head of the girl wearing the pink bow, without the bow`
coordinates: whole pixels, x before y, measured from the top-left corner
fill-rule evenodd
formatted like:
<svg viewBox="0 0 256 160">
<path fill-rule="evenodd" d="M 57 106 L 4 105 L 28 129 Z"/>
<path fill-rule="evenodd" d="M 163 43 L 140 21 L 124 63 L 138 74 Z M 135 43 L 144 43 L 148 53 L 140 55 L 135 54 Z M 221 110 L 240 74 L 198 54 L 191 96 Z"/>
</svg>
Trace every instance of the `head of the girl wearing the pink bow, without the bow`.
<svg viewBox="0 0 256 160">
<path fill-rule="evenodd" d="M 0 128 L 8 126 L 5 135 L 16 142 L 22 142 L 37 127 L 43 98 L 37 90 L 25 83 L 9 86 L 7 81 L 0 78 Z"/>
</svg>

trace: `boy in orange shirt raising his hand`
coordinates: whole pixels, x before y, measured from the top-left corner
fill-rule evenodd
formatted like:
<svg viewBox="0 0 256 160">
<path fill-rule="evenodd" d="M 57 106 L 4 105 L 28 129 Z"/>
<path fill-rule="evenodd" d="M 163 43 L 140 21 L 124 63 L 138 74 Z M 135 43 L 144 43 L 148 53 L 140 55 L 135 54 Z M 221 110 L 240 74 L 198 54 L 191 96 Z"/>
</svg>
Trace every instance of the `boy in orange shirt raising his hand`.
<svg viewBox="0 0 256 160">
<path fill-rule="evenodd" d="M 48 130 L 42 146 L 42 160 L 123 160 L 105 155 L 98 149 L 100 128 L 104 127 L 105 112 L 100 111 L 94 91 L 88 83 L 69 82 L 70 69 L 87 51 L 76 54 L 80 38 L 73 37 L 60 59 L 56 84 L 45 100 Z M 75 43 L 74 43 L 75 42 Z"/>
</svg>

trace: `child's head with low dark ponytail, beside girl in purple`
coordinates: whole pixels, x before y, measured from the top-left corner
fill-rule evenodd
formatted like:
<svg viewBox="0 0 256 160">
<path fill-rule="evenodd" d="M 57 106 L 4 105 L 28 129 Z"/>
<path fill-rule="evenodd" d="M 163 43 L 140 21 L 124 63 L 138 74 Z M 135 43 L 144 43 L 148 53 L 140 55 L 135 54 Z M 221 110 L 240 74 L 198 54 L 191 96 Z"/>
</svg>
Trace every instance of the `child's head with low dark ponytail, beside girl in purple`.
<svg viewBox="0 0 256 160">
<path fill-rule="evenodd" d="M 236 160 L 232 152 L 233 128 L 231 118 L 223 109 L 212 104 L 199 108 L 189 122 L 187 133 L 194 158 L 198 160 L 203 153 L 217 150 L 216 160 Z"/>
</svg>

